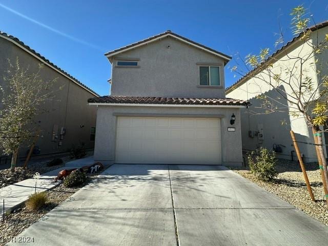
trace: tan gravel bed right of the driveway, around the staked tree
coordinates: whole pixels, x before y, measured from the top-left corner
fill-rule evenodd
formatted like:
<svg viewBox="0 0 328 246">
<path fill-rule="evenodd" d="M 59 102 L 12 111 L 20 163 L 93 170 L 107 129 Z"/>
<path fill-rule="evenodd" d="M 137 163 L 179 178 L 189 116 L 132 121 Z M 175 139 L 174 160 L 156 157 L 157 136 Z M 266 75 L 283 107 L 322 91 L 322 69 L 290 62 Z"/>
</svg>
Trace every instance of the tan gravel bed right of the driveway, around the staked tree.
<svg viewBox="0 0 328 246">
<path fill-rule="evenodd" d="M 258 180 L 245 167 L 239 170 L 233 168 L 233 171 L 328 226 L 328 205 L 324 198 L 318 163 L 306 163 L 305 166 L 316 202 L 310 198 L 301 168 L 296 161 L 278 160 L 276 170 L 279 174 L 272 182 Z"/>
</svg>

